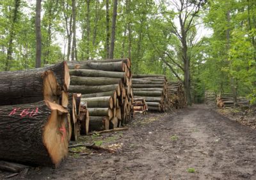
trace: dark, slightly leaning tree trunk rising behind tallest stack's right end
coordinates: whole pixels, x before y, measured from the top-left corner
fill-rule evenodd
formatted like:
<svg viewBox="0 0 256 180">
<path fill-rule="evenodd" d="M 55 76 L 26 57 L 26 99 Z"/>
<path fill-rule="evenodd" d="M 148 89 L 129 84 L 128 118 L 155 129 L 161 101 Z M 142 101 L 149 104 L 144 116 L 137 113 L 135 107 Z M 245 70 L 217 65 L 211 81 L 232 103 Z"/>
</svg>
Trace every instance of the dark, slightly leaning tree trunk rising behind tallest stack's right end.
<svg viewBox="0 0 256 180">
<path fill-rule="evenodd" d="M 112 31 L 111 31 L 111 43 L 110 43 L 110 49 L 109 49 L 109 59 L 113 59 L 113 57 L 114 57 L 115 34 L 116 34 L 116 11 L 117 11 L 117 0 L 114 1 L 114 7 L 113 7 Z"/>
</svg>

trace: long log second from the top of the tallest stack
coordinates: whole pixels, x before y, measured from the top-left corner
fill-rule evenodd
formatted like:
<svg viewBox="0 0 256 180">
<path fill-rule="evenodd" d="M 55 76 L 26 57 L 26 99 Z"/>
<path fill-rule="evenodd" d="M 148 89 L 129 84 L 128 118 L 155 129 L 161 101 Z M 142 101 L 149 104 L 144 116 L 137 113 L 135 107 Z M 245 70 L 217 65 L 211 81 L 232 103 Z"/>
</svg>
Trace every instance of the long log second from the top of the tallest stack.
<svg viewBox="0 0 256 180">
<path fill-rule="evenodd" d="M 101 70 L 70 70 L 70 75 L 80 76 L 80 77 L 111 77 L 124 79 L 126 73 L 115 72 L 115 71 L 101 71 Z"/>
</svg>

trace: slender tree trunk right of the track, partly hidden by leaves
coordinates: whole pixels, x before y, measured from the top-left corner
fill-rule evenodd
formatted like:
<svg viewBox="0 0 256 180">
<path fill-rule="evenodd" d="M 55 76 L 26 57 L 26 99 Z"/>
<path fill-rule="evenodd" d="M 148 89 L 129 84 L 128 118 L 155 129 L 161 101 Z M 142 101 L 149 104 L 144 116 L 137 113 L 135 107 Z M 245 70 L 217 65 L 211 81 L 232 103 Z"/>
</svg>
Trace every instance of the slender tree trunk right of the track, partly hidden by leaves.
<svg viewBox="0 0 256 180">
<path fill-rule="evenodd" d="M 226 37 L 227 37 L 227 61 L 228 61 L 228 52 L 230 50 L 230 10 L 227 11 L 227 30 L 226 30 Z M 230 70 L 232 70 L 232 62 L 230 61 Z M 236 79 L 234 77 L 230 77 L 230 85 L 232 96 L 234 99 L 234 103 L 236 103 Z"/>
</svg>

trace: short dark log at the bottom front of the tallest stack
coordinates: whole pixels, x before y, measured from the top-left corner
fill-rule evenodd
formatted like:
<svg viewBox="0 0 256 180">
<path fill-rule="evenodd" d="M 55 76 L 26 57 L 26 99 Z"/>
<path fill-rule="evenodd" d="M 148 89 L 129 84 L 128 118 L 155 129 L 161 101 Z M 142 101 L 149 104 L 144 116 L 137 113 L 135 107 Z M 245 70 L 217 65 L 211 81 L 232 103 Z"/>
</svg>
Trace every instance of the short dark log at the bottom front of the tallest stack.
<svg viewBox="0 0 256 180">
<path fill-rule="evenodd" d="M 101 131 L 109 129 L 108 117 L 90 116 L 89 131 Z"/>
</svg>

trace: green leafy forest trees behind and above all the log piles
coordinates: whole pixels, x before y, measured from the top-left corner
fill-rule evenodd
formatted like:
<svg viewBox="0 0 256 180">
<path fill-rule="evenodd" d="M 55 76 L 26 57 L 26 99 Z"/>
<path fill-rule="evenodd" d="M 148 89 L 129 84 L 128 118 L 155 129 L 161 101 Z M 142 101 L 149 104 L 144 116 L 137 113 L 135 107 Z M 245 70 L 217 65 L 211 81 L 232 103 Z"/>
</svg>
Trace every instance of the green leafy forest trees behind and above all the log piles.
<svg viewBox="0 0 256 180">
<path fill-rule="evenodd" d="M 131 57 L 133 73 L 184 81 L 189 103 L 206 90 L 255 102 L 254 0 L 2 0 L 0 71 L 35 68 L 39 3 L 39 66 Z"/>
</svg>

